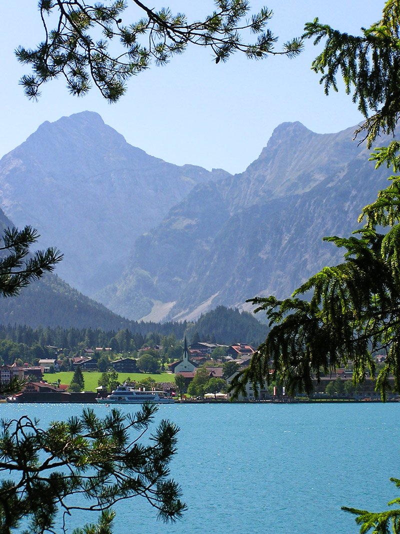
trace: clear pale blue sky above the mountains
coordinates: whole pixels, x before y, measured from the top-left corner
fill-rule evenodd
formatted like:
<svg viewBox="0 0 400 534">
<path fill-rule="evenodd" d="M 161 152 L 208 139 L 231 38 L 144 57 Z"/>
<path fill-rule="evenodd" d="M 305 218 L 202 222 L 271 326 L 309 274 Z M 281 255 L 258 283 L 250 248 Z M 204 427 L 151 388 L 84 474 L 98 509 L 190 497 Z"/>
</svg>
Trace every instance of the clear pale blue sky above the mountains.
<svg viewBox="0 0 400 534">
<path fill-rule="evenodd" d="M 129 2 L 129 0 L 128 0 Z M 380 19 L 377 0 L 253 0 L 274 11 L 269 28 L 283 43 L 301 35 L 304 23 L 318 17 L 342 32 L 359 34 Z M 108 104 L 93 88 L 89 95 L 70 96 L 60 78 L 46 84 L 38 102 L 28 100 L 18 84 L 29 67 L 18 64 L 14 50 L 43 40 L 36 0 L 4 2 L 0 35 L 2 128 L 0 157 L 20 145 L 44 121 L 85 110 L 98 112 L 128 143 L 175 164 L 242 172 L 258 158 L 273 130 L 282 122 L 300 121 L 317 133 L 357 124 L 361 115 L 344 91 L 328 97 L 310 69 L 318 49 L 311 41 L 295 58 L 251 61 L 236 54 L 218 65 L 210 51 L 191 46 L 163 67 L 132 78 L 126 94 Z M 152 0 L 156 9 L 169 6 L 198 20 L 213 11 L 210 0 Z M 134 14 L 133 14 L 134 15 Z M 132 21 L 140 17 L 132 18 Z M 125 18 L 124 18 L 125 22 Z"/>
</svg>

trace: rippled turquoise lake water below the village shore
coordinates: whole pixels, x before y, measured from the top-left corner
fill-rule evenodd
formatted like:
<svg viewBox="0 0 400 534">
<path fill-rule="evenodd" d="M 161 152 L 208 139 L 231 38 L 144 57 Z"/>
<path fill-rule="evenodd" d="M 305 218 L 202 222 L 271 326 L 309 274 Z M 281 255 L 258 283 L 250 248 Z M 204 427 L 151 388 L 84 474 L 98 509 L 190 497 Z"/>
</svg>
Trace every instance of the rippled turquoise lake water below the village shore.
<svg viewBox="0 0 400 534">
<path fill-rule="evenodd" d="M 106 414 L 109 408 L 94 405 Z M 134 406 L 123 406 L 134 411 Z M 52 420 L 81 405 L 2 404 L 1 417 Z M 341 506 L 381 511 L 400 497 L 400 404 L 161 406 L 181 428 L 171 471 L 188 510 L 171 525 L 144 499 L 116 506 L 115 534 L 351 534 Z M 69 532 L 96 515 L 71 520 Z"/>
</svg>

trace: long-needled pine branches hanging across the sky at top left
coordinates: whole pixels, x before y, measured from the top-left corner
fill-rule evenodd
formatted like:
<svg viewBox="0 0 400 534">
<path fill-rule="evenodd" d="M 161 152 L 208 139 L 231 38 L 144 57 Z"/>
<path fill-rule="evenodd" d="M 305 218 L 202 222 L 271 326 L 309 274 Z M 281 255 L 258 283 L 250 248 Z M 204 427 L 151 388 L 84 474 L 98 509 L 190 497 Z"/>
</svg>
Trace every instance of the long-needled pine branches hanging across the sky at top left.
<svg viewBox="0 0 400 534">
<path fill-rule="evenodd" d="M 130 77 L 153 62 L 166 64 L 189 44 L 210 49 L 217 63 L 237 51 L 261 59 L 268 54 L 293 57 L 302 48 L 301 40 L 295 38 L 276 52 L 277 39 L 266 29 L 272 11 L 263 7 L 250 15 L 246 0 L 216 0 L 213 13 L 194 22 L 167 7 L 157 11 L 139 0 L 132 3 L 142 15 L 135 22 L 127 20 L 124 0 L 95 4 L 40 0 L 44 40 L 35 49 L 19 46 L 15 52 L 21 63 L 32 67 L 32 74 L 20 82 L 26 95 L 37 98 L 43 83 L 63 76 L 73 95 L 85 95 L 94 84 L 103 97 L 115 102 Z M 53 24 L 54 18 L 54 29 L 50 29 L 49 21 Z M 245 41 L 246 33 L 254 35 L 253 42 Z"/>
</svg>

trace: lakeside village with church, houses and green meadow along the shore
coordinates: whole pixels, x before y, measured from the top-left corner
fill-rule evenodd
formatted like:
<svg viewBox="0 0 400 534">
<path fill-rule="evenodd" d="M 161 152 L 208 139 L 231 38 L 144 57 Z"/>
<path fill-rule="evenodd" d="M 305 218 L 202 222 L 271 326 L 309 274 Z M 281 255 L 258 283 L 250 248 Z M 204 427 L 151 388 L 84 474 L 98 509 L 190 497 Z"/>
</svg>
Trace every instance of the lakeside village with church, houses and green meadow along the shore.
<svg viewBox="0 0 400 534">
<path fill-rule="evenodd" d="M 171 363 L 166 363 L 165 371 L 157 374 L 142 372 L 139 375 L 138 360 L 125 357 L 110 359 L 106 370 L 100 370 L 99 358 L 95 358 L 96 351 L 110 351 L 110 348 L 83 349 L 83 355 L 74 357 L 71 364 L 73 370 L 69 372 L 69 383 L 62 383 L 61 379 L 52 380 L 60 371 L 60 361 L 57 358 L 57 347 L 54 358 L 38 359 L 35 365 L 28 363 L 0 366 L 1 383 L 12 380 L 21 382 L 21 391 L 14 396 L 3 398 L 2 402 L 28 403 L 95 403 L 99 397 L 111 393 L 111 387 L 118 383 L 129 383 L 138 388 L 157 388 L 167 392 L 176 402 L 305 402 L 306 400 L 380 400 L 380 392 L 375 391 L 376 381 L 367 373 L 363 384 L 354 386 L 351 364 L 348 368 L 339 368 L 329 375 L 320 373 L 319 380 L 313 376 L 314 391 L 310 397 L 298 395 L 290 397 L 285 387 L 279 381 L 264 384 L 257 393 L 252 384 L 246 384 L 246 393 L 240 393 L 233 398 L 229 390 L 231 381 L 237 373 L 249 366 L 254 347 L 248 343 L 220 345 L 217 343 L 195 341 L 188 346 L 185 337 L 182 357 Z M 146 347 L 153 354 L 162 347 Z M 148 353 L 146 353 L 148 354 Z M 217 355 L 219 357 L 217 357 Z M 383 364 L 385 357 L 378 356 L 377 367 Z M 90 389 L 77 388 L 74 382 L 74 372 L 85 373 L 93 378 L 102 371 L 98 384 Z M 66 373 L 64 373 L 65 375 Z M 131 380 L 130 376 L 134 376 Z M 67 382 L 67 381 L 66 381 Z M 393 386 L 393 377 L 389 378 Z M 398 396 L 388 391 L 387 400 L 397 400 Z M 1 400 L 1 399 L 0 399 Z"/>
</svg>

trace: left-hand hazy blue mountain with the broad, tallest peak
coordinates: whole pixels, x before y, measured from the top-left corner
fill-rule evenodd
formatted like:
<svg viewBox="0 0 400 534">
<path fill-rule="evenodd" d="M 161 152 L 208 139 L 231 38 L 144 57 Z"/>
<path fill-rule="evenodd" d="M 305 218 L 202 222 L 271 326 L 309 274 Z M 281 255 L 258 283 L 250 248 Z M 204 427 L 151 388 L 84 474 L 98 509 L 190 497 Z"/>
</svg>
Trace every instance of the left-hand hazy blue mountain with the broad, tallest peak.
<svg viewBox="0 0 400 534">
<path fill-rule="evenodd" d="M 57 273 L 86 295 L 121 275 L 135 238 L 196 184 L 229 176 L 182 167 L 126 143 L 100 115 L 44 122 L 0 160 L 0 206 L 64 254 Z"/>
</svg>

